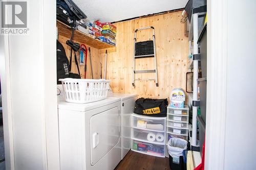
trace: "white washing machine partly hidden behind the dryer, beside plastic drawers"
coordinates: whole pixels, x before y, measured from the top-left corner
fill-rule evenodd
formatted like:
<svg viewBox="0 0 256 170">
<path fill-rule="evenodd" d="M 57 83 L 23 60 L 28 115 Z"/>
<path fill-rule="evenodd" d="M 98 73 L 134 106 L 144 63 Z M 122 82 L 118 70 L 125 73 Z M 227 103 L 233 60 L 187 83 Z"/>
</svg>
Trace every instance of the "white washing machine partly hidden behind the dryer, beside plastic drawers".
<svg viewBox="0 0 256 170">
<path fill-rule="evenodd" d="M 136 94 L 120 94 L 113 93 L 110 96 L 114 98 L 121 98 L 121 138 L 122 138 L 122 156 L 121 159 L 131 149 L 131 114 L 134 112 L 135 101 L 137 100 Z"/>
</svg>

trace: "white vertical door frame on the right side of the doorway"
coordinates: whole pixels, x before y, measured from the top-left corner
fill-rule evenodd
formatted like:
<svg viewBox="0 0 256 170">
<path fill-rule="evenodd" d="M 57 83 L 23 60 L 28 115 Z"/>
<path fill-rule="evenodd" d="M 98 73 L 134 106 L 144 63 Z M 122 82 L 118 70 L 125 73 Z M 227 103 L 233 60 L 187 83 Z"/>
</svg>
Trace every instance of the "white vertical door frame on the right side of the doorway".
<svg viewBox="0 0 256 170">
<path fill-rule="evenodd" d="M 224 169 L 227 2 L 207 1 L 207 108 L 205 169 Z"/>
</svg>

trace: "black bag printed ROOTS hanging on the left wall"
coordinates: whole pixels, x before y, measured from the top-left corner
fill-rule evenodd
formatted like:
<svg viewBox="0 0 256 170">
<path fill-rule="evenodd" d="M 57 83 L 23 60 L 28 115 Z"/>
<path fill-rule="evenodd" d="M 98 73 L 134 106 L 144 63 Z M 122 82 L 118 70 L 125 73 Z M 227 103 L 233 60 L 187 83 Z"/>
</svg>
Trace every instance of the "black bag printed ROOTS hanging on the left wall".
<svg viewBox="0 0 256 170">
<path fill-rule="evenodd" d="M 65 48 L 57 41 L 57 84 L 61 84 L 59 79 L 69 78 L 69 60 L 66 56 Z"/>
</svg>

